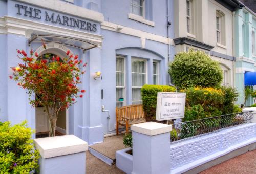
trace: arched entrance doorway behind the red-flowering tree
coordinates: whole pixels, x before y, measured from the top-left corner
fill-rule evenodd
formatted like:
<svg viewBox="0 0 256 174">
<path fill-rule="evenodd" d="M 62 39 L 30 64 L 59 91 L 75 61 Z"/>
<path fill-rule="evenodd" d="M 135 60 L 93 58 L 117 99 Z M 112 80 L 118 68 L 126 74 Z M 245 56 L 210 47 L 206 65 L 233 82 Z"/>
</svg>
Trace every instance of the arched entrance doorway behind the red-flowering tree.
<svg viewBox="0 0 256 174">
<path fill-rule="evenodd" d="M 37 50 L 40 51 L 40 48 L 38 48 Z M 50 47 L 47 50 L 43 50 L 39 52 L 38 54 L 39 54 L 39 58 L 38 58 L 39 60 L 45 59 L 47 60 L 47 62 L 52 62 L 52 61 L 55 61 L 55 60 L 52 60 L 52 58 L 57 56 L 60 57 L 60 61 L 62 61 L 62 58 L 65 57 L 64 55 L 66 54 L 66 52 L 58 48 Z M 38 99 L 40 99 L 39 95 L 36 94 L 35 96 Z M 36 123 L 35 124 L 36 138 L 48 137 L 49 122 L 47 119 L 47 113 L 43 106 L 40 106 L 40 105 L 35 106 L 35 123 Z M 58 136 L 58 135 L 66 135 L 66 134 L 68 134 L 68 111 L 60 110 L 58 113 L 55 135 Z"/>
</svg>

